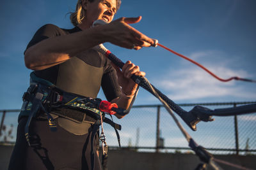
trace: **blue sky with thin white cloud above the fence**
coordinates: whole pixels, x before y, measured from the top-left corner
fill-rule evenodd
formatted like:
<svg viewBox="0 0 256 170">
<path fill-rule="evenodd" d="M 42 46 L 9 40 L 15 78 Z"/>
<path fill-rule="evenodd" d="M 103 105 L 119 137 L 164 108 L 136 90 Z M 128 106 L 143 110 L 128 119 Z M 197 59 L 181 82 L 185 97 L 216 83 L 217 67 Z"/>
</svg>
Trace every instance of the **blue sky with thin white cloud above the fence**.
<svg viewBox="0 0 256 170">
<path fill-rule="evenodd" d="M 23 52 L 35 31 L 44 24 L 72 28 L 66 14 L 75 6 L 76 0 L 1 2 L 0 110 L 19 109 L 22 104 L 31 72 L 24 66 Z M 115 19 L 141 15 L 141 22 L 132 26 L 159 43 L 200 62 L 221 78 L 241 76 L 256 80 L 255 9 L 255 0 L 124 0 Z M 140 66 L 148 80 L 176 103 L 256 101 L 256 83 L 220 82 L 161 47 L 136 51 L 109 43 L 105 46 L 123 61 L 129 59 Z M 99 97 L 104 99 L 102 92 Z M 143 89 L 135 102 L 158 103 Z M 128 131 L 122 132 L 123 138 L 134 135 Z"/>
</svg>

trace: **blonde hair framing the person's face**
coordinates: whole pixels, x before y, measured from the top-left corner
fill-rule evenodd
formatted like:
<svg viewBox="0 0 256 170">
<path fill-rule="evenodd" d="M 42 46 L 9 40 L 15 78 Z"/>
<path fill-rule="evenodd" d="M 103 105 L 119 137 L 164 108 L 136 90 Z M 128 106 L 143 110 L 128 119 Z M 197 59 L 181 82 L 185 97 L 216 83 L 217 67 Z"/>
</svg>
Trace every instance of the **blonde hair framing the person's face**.
<svg viewBox="0 0 256 170">
<path fill-rule="evenodd" d="M 85 17 L 86 11 L 82 7 L 82 1 L 78 0 L 76 4 L 76 11 L 70 13 L 70 21 L 74 26 L 82 24 L 82 20 Z M 88 0 L 92 3 L 95 0 Z M 116 0 L 116 11 L 120 8 L 121 0 Z"/>
</svg>

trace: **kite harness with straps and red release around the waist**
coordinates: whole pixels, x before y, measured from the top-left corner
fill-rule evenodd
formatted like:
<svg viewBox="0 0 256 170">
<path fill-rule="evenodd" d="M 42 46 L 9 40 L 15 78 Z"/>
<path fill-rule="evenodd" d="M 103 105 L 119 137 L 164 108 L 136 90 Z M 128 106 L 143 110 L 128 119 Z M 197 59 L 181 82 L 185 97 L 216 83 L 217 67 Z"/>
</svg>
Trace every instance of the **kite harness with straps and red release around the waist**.
<svg viewBox="0 0 256 170">
<path fill-rule="evenodd" d="M 92 97 L 79 96 L 70 92 L 65 92 L 59 89 L 56 85 L 50 81 L 38 78 L 34 72 L 30 74 L 30 86 L 27 92 L 22 97 L 24 103 L 20 111 L 19 120 L 22 117 L 28 117 L 28 122 L 25 126 L 25 137 L 28 145 L 29 142 L 29 125 L 32 118 L 38 118 L 42 115 L 46 115 L 49 127 L 52 132 L 57 131 L 57 125 L 52 117 L 51 113 L 59 115 L 73 120 L 77 123 L 82 123 L 84 120 L 94 122 L 92 126 L 91 136 L 91 165 L 94 169 L 94 152 L 93 152 L 93 139 L 96 133 L 99 131 L 99 126 L 102 125 L 102 132 L 100 134 L 100 140 L 102 141 L 102 167 L 107 168 L 106 162 L 108 158 L 108 146 L 106 145 L 106 137 L 104 136 L 103 124 L 105 122 L 111 125 L 116 132 L 118 139 L 118 145 L 120 146 L 120 136 L 117 130 L 121 130 L 122 127 L 119 124 L 113 122 L 113 118 L 106 118 L 105 115 L 113 115 L 115 113 L 119 115 L 127 114 L 127 111 L 122 108 L 118 108 L 115 103 L 109 103 L 108 101 L 101 101 L 99 98 L 93 99 Z M 90 115 L 88 117 L 88 115 Z"/>
</svg>

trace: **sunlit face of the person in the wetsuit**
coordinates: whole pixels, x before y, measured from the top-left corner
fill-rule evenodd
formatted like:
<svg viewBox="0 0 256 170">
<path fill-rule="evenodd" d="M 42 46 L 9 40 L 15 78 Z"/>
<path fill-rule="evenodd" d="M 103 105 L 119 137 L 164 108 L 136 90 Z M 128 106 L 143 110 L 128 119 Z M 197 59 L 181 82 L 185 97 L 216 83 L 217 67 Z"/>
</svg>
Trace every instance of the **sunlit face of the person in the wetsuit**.
<svg viewBox="0 0 256 170">
<path fill-rule="evenodd" d="M 92 25 L 95 20 L 111 22 L 116 13 L 116 0 L 94 0 L 90 3 L 84 0 L 83 8 L 86 10 L 85 22 Z"/>
</svg>

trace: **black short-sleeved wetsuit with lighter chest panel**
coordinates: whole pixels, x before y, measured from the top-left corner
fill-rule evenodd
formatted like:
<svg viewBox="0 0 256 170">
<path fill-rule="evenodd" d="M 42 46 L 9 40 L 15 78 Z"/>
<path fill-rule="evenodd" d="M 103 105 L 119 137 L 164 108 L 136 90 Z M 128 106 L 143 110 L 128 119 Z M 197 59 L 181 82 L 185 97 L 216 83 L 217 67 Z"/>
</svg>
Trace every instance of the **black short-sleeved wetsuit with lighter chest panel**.
<svg viewBox="0 0 256 170">
<path fill-rule="evenodd" d="M 78 27 L 60 29 L 56 25 L 44 25 L 33 36 L 27 49 L 44 39 L 64 36 L 77 31 L 81 31 L 81 29 Z M 81 52 L 76 57 L 56 66 L 35 71 L 35 74 L 51 81 L 66 92 L 81 96 L 97 97 L 100 86 L 108 101 L 115 99 L 122 93 L 111 62 L 104 55 L 92 49 Z M 57 132 L 50 131 L 44 116 L 33 118 L 29 127 L 31 147 L 28 147 L 24 136 L 24 126 L 28 118 L 20 116 L 17 141 L 10 160 L 9 170 L 91 169 L 90 138 L 93 117 L 87 113 L 86 117 L 88 119 L 79 124 L 68 118 L 55 115 Z M 96 154 L 98 142 L 99 136 L 96 136 L 93 141 L 95 169 L 100 169 L 99 158 Z"/>
</svg>

